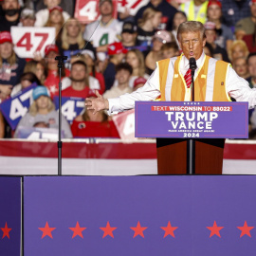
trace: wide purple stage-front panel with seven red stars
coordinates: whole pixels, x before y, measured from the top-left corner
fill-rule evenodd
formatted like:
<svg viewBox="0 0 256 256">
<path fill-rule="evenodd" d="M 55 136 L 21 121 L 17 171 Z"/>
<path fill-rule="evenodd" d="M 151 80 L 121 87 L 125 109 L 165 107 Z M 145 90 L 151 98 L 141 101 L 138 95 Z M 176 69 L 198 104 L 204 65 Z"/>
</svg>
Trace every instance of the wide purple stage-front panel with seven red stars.
<svg viewBox="0 0 256 256">
<path fill-rule="evenodd" d="M 24 177 L 25 256 L 242 256 L 255 175 Z"/>
</svg>

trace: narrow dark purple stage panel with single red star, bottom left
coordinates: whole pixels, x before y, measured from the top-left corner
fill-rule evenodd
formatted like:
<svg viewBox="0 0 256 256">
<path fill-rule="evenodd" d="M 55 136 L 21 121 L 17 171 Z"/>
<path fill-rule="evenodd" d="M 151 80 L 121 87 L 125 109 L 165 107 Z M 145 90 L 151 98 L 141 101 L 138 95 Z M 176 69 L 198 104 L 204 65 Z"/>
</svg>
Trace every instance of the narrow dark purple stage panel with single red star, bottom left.
<svg viewBox="0 0 256 256">
<path fill-rule="evenodd" d="M 0 255 L 21 255 L 21 177 L 0 177 Z"/>
</svg>

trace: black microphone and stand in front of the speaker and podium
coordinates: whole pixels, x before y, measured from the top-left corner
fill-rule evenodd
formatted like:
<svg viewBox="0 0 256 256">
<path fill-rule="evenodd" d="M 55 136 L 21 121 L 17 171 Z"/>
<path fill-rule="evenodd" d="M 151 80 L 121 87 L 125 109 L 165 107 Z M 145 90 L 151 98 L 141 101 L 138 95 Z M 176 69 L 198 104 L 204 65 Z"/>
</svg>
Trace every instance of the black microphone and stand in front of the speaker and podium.
<svg viewBox="0 0 256 256">
<path fill-rule="evenodd" d="M 196 69 L 196 63 L 192 64 L 190 61 L 190 68 L 192 69 L 192 101 L 194 101 L 194 70 Z M 187 144 L 187 174 L 195 174 L 195 141 L 193 138 L 189 138 Z"/>
</svg>

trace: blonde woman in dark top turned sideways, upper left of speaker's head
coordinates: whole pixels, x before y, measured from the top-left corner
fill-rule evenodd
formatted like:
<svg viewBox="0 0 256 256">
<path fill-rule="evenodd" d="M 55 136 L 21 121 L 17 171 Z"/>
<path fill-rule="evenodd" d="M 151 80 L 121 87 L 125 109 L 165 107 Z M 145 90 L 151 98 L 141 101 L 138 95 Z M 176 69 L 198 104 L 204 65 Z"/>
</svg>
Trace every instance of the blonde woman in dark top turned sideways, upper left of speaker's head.
<svg viewBox="0 0 256 256">
<path fill-rule="evenodd" d="M 150 49 L 156 28 L 161 23 L 161 16 L 162 13 L 155 8 L 144 10 L 142 18 L 137 21 L 137 46 L 147 46 Z"/>
</svg>

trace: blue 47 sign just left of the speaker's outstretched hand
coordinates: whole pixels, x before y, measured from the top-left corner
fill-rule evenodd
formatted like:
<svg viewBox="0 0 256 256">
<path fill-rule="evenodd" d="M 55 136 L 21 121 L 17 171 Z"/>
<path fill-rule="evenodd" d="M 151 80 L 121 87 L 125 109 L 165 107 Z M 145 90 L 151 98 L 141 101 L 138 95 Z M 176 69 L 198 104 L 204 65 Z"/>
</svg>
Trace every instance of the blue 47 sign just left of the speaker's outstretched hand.
<svg viewBox="0 0 256 256">
<path fill-rule="evenodd" d="M 54 96 L 53 101 L 56 110 L 59 110 L 59 97 Z M 84 101 L 83 98 L 62 97 L 62 114 L 69 123 L 72 123 L 73 119 L 82 114 Z"/>
</svg>

